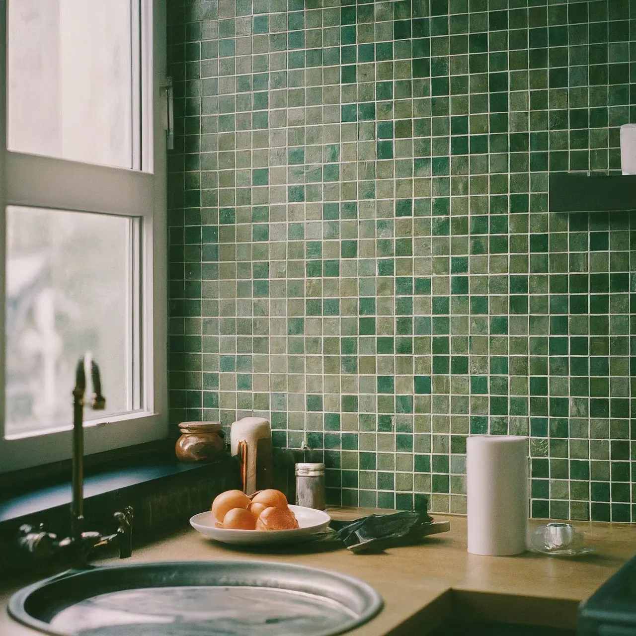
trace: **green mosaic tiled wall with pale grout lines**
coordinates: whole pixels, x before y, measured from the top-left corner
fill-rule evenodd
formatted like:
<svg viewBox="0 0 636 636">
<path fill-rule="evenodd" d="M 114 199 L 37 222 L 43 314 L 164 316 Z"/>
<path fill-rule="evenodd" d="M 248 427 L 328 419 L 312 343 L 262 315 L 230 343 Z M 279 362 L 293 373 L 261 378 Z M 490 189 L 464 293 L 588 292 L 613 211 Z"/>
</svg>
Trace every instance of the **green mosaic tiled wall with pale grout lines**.
<svg viewBox="0 0 636 636">
<path fill-rule="evenodd" d="M 262 414 L 331 501 L 452 512 L 466 436 L 529 434 L 534 516 L 630 521 L 636 217 L 547 191 L 619 170 L 635 34 L 636 0 L 172 0 L 172 421 Z"/>
</svg>

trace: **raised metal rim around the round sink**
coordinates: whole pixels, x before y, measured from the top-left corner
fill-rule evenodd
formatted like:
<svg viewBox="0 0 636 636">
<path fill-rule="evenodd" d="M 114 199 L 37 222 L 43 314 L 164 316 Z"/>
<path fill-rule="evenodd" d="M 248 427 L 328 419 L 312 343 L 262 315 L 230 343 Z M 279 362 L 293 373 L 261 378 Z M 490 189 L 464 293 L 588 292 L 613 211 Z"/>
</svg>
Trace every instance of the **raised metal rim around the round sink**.
<svg viewBox="0 0 636 636">
<path fill-rule="evenodd" d="M 192 572 L 193 568 L 195 569 Z M 218 559 L 218 560 L 190 560 L 190 561 L 149 561 L 149 562 L 135 562 L 135 563 L 109 563 L 106 565 L 99 565 L 97 567 L 90 567 L 85 570 L 66 570 L 65 572 L 61 572 L 60 574 L 56 574 L 55 576 L 48 577 L 46 579 L 41 579 L 40 581 L 36 581 L 36 583 L 32 583 L 28 586 L 25 586 L 21 590 L 15 592 L 7 605 L 7 611 L 10 614 L 11 618 L 13 618 L 18 623 L 25 625 L 27 627 L 33 628 L 35 630 L 39 630 L 40 632 L 51 634 L 52 636 L 71 636 L 70 632 L 60 632 L 55 628 L 52 628 L 50 623 L 46 622 L 45 619 L 36 618 L 33 614 L 29 613 L 26 609 L 26 605 L 29 601 L 37 601 L 38 593 L 45 591 L 46 588 L 50 586 L 64 585 L 69 582 L 79 585 L 79 588 L 86 589 L 86 581 L 79 580 L 74 581 L 76 577 L 97 577 L 97 583 L 99 584 L 100 575 L 105 575 L 106 577 L 109 574 L 117 574 L 120 573 L 121 581 L 128 581 L 131 583 L 130 585 L 121 584 L 118 586 L 116 590 L 102 590 L 100 591 L 98 587 L 94 590 L 89 591 L 86 594 L 78 595 L 78 598 L 71 598 L 67 605 L 64 607 L 55 607 L 55 598 L 50 601 L 51 604 L 51 612 L 52 616 L 49 620 L 52 620 L 54 616 L 57 616 L 63 609 L 66 607 L 70 607 L 71 605 L 80 602 L 81 600 L 85 600 L 86 598 L 91 598 L 107 591 L 123 591 L 123 590 L 134 590 L 141 588 L 152 588 L 152 587 L 167 587 L 167 586 L 186 586 L 186 585 L 197 585 L 195 582 L 191 583 L 175 583 L 171 581 L 169 584 L 161 583 L 158 581 L 158 584 L 153 585 L 151 578 L 148 578 L 148 581 L 145 585 L 135 584 L 134 580 L 131 581 L 130 577 L 126 577 L 126 570 L 130 574 L 130 570 L 136 571 L 140 575 L 144 575 L 144 570 L 146 576 L 151 576 L 153 572 L 157 572 L 160 575 L 162 571 L 169 572 L 170 574 L 183 574 L 184 576 L 192 576 L 193 574 L 198 572 L 202 574 L 206 574 L 209 572 L 210 574 L 221 574 L 223 576 L 224 572 L 229 574 L 231 571 L 232 579 L 228 581 L 219 581 L 216 585 L 212 584 L 211 587 L 214 586 L 231 586 L 231 585 L 243 585 L 243 586 L 263 586 L 262 584 L 258 584 L 256 581 L 249 583 L 249 578 L 254 576 L 273 576 L 273 580 L 275 581 L 276 576 L 280 578 L 280 585 L 267 585 L 272 588 L 279 589 L 288 589 L 293 591 L 299 591 L 298 584 L 300 583 L 303 586 L 300 591 L 308 591 L 308 593 L 314 593 L 315 595 L 321 596 L 323 598 L 329 598 L 331 600 L 339 601 L 342 605 L 345 605 L 342 602 L 342 596 L 338 594 L 337 591 L 333 592 L 333 595 L 329 595 L 328 593 L 321 593 L 324 591 L 329 591 L 329 583 L 336 584 L 335 588 L 340 586 L 340 590 L 348 590 L 349 595 L 354 600 L 360 604 L 360 609 L 349 607 L 349 605 L 345 605 L 350 611 L 356 612 L 357 616 L 353 616 L 350 620 L 344 621 L 341 626 L 338 628 L 329 628 L 324 632 L 317 633 L 316 636 L 334 636 L 336 634 L 349 632 L 360 625 L 370 621 L 372 618 L 377 616 L 377 614 L 384 607 L 384 601 L 380 594 L 374 590 L 368 583 L 357 579 L 356 577 L 349 576 L 348 574 L 342 574 L 341 572 L 336 572 L 334 570 L 325 570 L 321 568 L 310 567 L 307 565 L 297 565 L 296 563 L 280 563 L 275 561 L 268 560 L 247 560 L 247 559 Z M 190 572 L 188 572 L 190 570 Z M 246 583 L 236 583 L 235 581 L 240 581 L 241 574 L 244 577 Z M 89 579 L 90 581 L 90 579 Z M 234 581 L 234 582 L 233 582 Z M 202 583 L 198 583 L 201 585 Z M 335 589 L 334 588 L 334 589 Z M 58 595 L 59 596 L 59 595 Z M 59 602 L 58 604 L 59 605 Z M 54 610 L 54 611 L 53 611 Z M 34 612 L 37 614 L 37 612 Z"/>
</svg>

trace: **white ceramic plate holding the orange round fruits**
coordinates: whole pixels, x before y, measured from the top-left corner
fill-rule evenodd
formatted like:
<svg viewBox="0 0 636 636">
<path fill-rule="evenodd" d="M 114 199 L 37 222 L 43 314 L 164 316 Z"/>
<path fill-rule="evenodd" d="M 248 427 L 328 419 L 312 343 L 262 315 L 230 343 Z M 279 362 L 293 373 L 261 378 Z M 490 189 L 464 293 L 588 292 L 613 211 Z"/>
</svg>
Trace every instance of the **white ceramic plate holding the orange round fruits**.
<svg viewBox="0 0 636 636">
<path fill-rule="evenodd" d="M 325 530 L 331 521 L 331 517 L 322 510 L 291 504 L 289 509 L 298 520 L 299 527 L 293 530 L 226 530 L 225 528 L 216 528 L 214 526 L 216 520 L 211 511 L 193 516 L 190 519 L 190 525 L 204 536 L 222 543 L 256 546 L 307 541 L 312 534 Z"/>
</svg>

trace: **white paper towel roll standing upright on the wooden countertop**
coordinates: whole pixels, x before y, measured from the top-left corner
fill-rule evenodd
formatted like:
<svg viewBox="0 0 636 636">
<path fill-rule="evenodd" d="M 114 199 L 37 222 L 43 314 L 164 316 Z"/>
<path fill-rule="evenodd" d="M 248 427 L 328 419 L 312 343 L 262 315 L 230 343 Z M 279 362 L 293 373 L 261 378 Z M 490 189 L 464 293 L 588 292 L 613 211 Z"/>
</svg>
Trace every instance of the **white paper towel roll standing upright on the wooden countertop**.
<svg viewBox="0 0 636 636">
<path fill-rule="evenodd" d="M 528 438 L 478 435 L 466 445 L 468 551 L 495 556 L 525 552 Z"/>
</svg>

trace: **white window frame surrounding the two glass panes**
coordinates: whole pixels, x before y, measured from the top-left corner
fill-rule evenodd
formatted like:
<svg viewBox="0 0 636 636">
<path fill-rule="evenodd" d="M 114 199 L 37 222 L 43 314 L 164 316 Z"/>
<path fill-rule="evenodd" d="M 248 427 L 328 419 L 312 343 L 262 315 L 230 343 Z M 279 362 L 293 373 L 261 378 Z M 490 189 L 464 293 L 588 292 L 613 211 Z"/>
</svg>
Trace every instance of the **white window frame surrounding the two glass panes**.
<svg viewBox="0 0 636 636">
<path fill-rule="evenodd" d="M 168 433 L 165 0 L 138 0 L 142 18 L 141 119 L 151 122 L 142 127 L 142 170 L 6 149 L 6 17 L 10 1 L 0 0 L 0 473 L 69 459 L 73 428 L 73 387 L 69 386 L 69 425 L 64 430 L 22 438 L 4 434 L 7 205 L 141 218 L 142 410 L 85 422 L 85 453 L 162 439 Z M 108 387 L 104 387 L 104 395 L 108 397 Z"/>
</svg>

